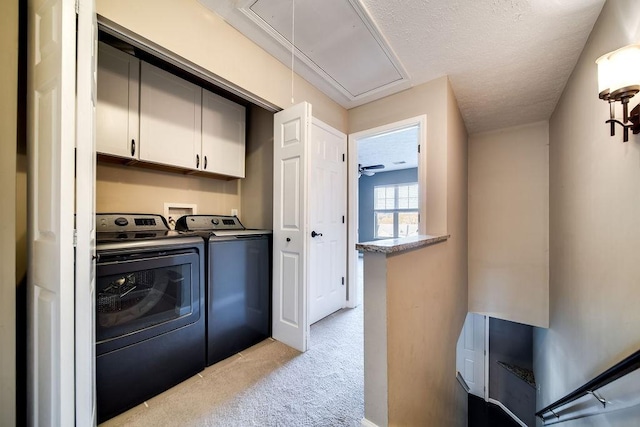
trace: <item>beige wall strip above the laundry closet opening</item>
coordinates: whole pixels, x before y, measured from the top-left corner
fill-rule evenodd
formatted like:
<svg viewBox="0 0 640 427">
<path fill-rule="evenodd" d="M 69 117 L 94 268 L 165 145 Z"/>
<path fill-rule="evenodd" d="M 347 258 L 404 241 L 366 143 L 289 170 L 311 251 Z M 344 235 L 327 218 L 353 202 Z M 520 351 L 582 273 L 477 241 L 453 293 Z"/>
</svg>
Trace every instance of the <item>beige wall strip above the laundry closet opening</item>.
<svg viewBox="0 0 640 427">
<path fill-rule="evenodd" d="M 98 14 L 281 108 L 291 105 L 291 70 L 197 0 L 97 0 Z M 295 103 L 346 131 L 346 110 L 295 75 Z"/>
</svg>

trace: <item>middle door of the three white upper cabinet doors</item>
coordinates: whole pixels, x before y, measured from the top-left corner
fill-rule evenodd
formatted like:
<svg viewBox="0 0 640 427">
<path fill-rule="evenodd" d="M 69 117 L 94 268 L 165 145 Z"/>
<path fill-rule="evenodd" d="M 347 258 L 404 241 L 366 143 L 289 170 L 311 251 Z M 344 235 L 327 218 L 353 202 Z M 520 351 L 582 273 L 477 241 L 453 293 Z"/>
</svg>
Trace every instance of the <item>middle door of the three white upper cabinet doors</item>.
<svg viewBox="0 0 640 427">
<path fill-rule="evenodd" d="M 202 89 L 143 62 L 140 160 L 200 169 Z"/>
</svg>

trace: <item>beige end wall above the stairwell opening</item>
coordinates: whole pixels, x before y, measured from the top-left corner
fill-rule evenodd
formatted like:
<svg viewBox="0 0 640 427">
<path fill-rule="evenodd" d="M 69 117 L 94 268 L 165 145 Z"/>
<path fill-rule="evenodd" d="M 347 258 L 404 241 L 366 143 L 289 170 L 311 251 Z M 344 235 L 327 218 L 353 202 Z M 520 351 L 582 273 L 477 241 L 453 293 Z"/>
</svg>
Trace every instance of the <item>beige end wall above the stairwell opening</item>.
<svg viewBox="0 0 640 427">
<path fill-rule="evenodd" d="M 549 125 L 469 138 L 469 311 L 549 326 Z"/>
</svg>

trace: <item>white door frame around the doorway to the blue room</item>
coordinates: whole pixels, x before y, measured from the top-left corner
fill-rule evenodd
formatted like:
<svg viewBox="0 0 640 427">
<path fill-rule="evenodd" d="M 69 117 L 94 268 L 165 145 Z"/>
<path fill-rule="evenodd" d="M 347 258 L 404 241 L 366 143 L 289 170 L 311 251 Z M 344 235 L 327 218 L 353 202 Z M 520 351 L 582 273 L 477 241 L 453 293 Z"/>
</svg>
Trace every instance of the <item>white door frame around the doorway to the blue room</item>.
<svg viewBox="0 0 640 427">
<path fill-rule="evenodd" d="M 419 215 L 418 233 L 425 234 L 427 219 L 427 116 L 425 114 L 374 127 L 371 129 L 349 134 L 347 142 L 347 283 L 348 297 L 347 307 L 356 307 L 358 302 L 358 251 L 355 248 L 358 243 L 358 141 L 382 133 L 391 132 L 410 126 L 419 127 L 418 146 L 418 191 L 419 191 Z"/>
</svg>

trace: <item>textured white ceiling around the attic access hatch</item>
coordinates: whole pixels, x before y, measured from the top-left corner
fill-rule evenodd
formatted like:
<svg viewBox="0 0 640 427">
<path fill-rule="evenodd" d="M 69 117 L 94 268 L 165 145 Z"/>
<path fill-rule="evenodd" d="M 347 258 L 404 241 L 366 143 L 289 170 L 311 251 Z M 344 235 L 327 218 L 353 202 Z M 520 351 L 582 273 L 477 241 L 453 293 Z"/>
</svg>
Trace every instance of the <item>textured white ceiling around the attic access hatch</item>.
<svg viewBox="0 0 640 427">
<path fill-rule="evenodd" d="M 200 1 L 283 63 L 291 65 L 290 49 L 286 48 L 289 37 L 278 31 L 270 34 L 265 31 L 265 25 L 261 27 L 262 19 L 248 18 L 247 11 L 255 13 L 251 8 L 258 0 Z M 294 0 L 260 1 L 266 5 L 262 6 L 262 14 L 266 16 L 268 4 L 274 5 L 275 14 L 276 4 L 284 11 Z M 319 1 L 295 0 L 295 4 L 300 10 L 315 8 L 316 15 L 334 13 L 331 5 L 336 4 L 336 0 Z M 345 108 L 448 75 L 467 130 L 473 134 L 551 116 L 605 0 L 342 1 L 363 15 L 365 21 L 366 18 L 371 21 L 373 36 L 379 37 L 377 31 L 381 34 L 378 39 L 407 79 L 370 95 L 345 98 L 344 91 L 336 90 L 331 78 L 314 71 L 304 60 L 296 63 L 296 72 Z M 335 19 L 323 16 L 322 20 L 341 23 L 344 28 L 347 24 L 342 15 L 344 13 L 335 12 Z M 295 33 L 299 40 L 304 39 L 306 28 L 313 27 L 305 25 L 303 19 L 296 21 Z M 281 33 L 286 20 L 282 17 L 280 21 Z M 278 22 L 277 16 L 273 22 Z M 333 40 L 340 33 L 338 30 L 326 29 L 336 58 L 341 57 L 341 44 Z M 274 33 L 278 34 L 274 36 Z M 278 37 L 281 40 L 276 41 Z M 300 49 L 297 44 L 296 47 Z M 300 52 L 299 56 L 312 57 L 313 54 Z M 348 68 L 354 66 L 354 61 L 367 61 L 366 55 L 360 56 L 353 55 L 350 61 L 340 60 L 339 65 Z"/>
</svg>

